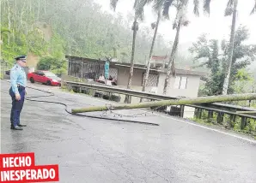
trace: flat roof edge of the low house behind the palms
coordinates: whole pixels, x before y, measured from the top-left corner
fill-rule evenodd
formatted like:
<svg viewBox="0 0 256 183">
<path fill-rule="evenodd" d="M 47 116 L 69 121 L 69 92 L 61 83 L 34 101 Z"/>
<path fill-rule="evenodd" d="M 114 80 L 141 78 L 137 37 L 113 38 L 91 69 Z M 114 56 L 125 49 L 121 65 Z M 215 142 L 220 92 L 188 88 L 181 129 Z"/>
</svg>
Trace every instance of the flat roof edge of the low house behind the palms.
<svg viewBox="0 0 256 183">
<path fill-rule="evenodd" d="M 79 56 L 65 56 L 67 59 L 70 61 L 75 61 L 75 62 L 98 62 L 101 64 L 105 64 L 106 61 L 103 60 L 97 60 L 97 59 L 92 59 L 92 58 L 84 58 L 84 57 L 79 57 Z M 130 63 L 127 62 L 109 62 L 109 66 L 113 67 L 124 67 L 124 68 L 130 68 L 131 65 Z M 146 70 L 147 66 L 143 64 L 134 64 L 133 68 L 137 69 L 143 69 Z M 155 71 L 157 73 L 167 73 L 168 69 L 167 68 L 150 68 L 150 71 Z M 186 74 L 186 75 L 197 75 L 197 76 L 205 76 L 207 73 L 206 72 L 200 72 L 200 71 L 193 71 L 190 69 L 180 69 L 176 68 L 176 74 Z"/>
</svg>

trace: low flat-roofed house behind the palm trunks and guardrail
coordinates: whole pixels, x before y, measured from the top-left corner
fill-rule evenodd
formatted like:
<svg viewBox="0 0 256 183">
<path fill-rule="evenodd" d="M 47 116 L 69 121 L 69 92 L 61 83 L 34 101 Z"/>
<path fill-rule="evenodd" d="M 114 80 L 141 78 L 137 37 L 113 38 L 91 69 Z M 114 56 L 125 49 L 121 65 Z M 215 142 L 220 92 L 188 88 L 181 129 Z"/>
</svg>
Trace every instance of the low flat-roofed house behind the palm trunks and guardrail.
<svg viewBox="0 0 256 183">
<path fill-rule="evenodd" d="M 82 58 L 78 56 L 66 56 L 68 60 L 68 75 L 88 80 L 96 80 L 101 74 L 104 75 L 106 61 Z M 126 88 L 130 74 L 130 63 L 109 62 L 109 75 L 117 80 L 117 86 Z M 134 64 L 131 89 L 142 91 L 143 78 L 146 66 Z M 146 91 L 154 91 L 162 94 L 164 81 L 167 73 L 167 64 L 152 64 Z M 169 79 L 167 95 L 170 97 L 198 97 L 200 78 L 206 73 L 176 69 L 176 77 Z M 138 103 L 140 98 L 132 97 L 131 103 Z"/>
</svg>

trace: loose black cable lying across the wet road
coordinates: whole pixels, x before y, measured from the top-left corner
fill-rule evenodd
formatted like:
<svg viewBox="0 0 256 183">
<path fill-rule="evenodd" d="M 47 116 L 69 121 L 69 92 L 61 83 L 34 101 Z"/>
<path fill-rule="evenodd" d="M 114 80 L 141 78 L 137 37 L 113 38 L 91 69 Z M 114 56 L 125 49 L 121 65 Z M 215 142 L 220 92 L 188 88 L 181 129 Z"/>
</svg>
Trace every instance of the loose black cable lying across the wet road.
<svg viewBox="0 0 256 183">
<path fill-rule="evenodd" d="M 1 80 L 2 80 L 2 79 L 1 79 Z M 3 81 L 9 82 L 8 80 L 3 80 Z M 10 83 L 10 82 L 9 82 L 9 83 Z M 110 118 L 110 117 L 103 117 L 103 116 L 95 116 L 95 115 L 75 114 L 75 113 L 70 112 L 70 111 L 67 109 L 68 106 L 67 106 L 67 104 L 65 104 L 65 103 L 58 103 L 58 102 L 46 101 L 46 100 L 34 100 L 34 99 L 30 99 L 30 98 L 36 98 L 36 97 L 53 97 L 53 96 L 58 97 L 58 96 L 56 96 L 53 92 L 41 90 L 41 89 L 34 88 L 34 87 L 30 87 L 30 86 L 27 86 L 26 88 L 30 88 L 30 89 L 33 89 L 33 90 L 36 90 L 36 91 L 42 91 L 42 92 L 45 92 L 45 93 L 49 93 L 49 94 L 50 94 L 50 95 L 46 95 L 46 96 L 25 97 L 26 100 L 28 100 L 28 101 L 33 101 L 33 102 L 39 102 L 39 103 L 56 103 L 56 104 L 64 105 L 65 111 L 66 111 L 68 114 L 70 114 L 70 115 L 77 115 L 77 116 L 83 116 L 83 117 L 95 118 L 95 119 L 101 119 L 101 120 L 109 120 L 109 121 L 125 121 L 125 122 L 139 123 L 139 124 L 144 124 L 144 125 L 159 126 L 159 124 L 151 123 L 151 122 L 133 121 L 133 120 L 117 119 L 117 118 Z M 1 90 L 1 91 L 2 91 L 2 90 Z M 2 92 L 4 92 L 4 91 L 2 91 Z M 6 93 L 6 92 L 4 92 L 4 93 Z M 9 94 L 9 93 L 8 93 L 8 94 Z"/>
</svg>

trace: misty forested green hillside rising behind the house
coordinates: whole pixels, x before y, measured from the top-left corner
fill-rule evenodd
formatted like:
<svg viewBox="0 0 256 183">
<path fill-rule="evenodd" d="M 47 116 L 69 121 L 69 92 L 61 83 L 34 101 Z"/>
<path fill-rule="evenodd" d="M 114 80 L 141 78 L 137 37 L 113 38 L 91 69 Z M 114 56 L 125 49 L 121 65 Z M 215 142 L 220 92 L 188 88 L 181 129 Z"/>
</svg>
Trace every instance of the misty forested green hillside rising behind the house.
<svg viewBox="0 0 256 183">
<path fill-rule="evenodd" d="M 4 32 L 2 56 L 9 63 L 29 52 L 60 62 L 65 55 L 130 62 L 132 18 L 115 18 L 90 0 L 4 0 L 1 9 L 2 30 L 10 31 Z M 145 63 L 151 45 L 149 31 L 138 30 L 135 62 Z M 168 52 L 170 45 L 161 35 L 155 44 L 155 54 Z"/>
</svg>

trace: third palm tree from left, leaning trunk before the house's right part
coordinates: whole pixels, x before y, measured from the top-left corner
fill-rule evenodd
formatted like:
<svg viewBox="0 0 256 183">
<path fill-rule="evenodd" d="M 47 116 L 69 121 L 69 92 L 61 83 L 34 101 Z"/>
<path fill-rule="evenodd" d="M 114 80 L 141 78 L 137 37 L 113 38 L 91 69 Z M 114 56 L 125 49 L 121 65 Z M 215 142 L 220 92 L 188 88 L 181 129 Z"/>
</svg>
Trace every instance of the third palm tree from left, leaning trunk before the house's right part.
<svg viewBox="0 0 256 183">
<path fill-rule="evenodd" d="M 199 13 L 198 13 L 199 1 L 194 0 L 193 3 L 194 3 L 193 13 L 195 15 L 199 15 Z M 173 29 L 176 29 L 176 35 L 175 35 L 175 39 L 174 39 L 173 48 L 171 51 L 171 56 L 170 56 L 169 62 L 168 62 L 168 72 L 167 72 L 166 79 L 164 82 L 164 87 L 163 87 L 164 95 L 166 95 L 167 91 L 168 91 L 170 75 L 173 74 L 173 76 L 175 76 L 174 59 L 175 59 L 176 52 L 178 50 L 178 44 L 179 44 L 179 38 L 180 38 L 180 28 L 182 26 L 186 27 L 189 24 L 189 21 L 186 20 L 186 9 L 187 9 L 187 5 L 188 5 L 188 0 L 165 0 L 165 2 L 163 3 L 162 14 L 167 19 L 169 19 L 168 10 L 169 10 L 170 6 L 172 6 L 172 5 L 177 9 L 175 21 L 173 24 Z"/>
</svg>

